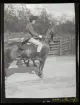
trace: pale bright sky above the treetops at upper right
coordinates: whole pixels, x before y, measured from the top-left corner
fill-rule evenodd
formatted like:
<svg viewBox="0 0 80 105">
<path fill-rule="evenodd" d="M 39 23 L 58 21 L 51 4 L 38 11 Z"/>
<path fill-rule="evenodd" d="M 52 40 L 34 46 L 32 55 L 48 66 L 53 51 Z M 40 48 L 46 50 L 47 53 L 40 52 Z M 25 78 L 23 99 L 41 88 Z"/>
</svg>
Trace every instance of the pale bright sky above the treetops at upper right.
<svg viewBox="0 0 80 105">
<path fill-rule="evenodd" d="M 33 12 L 36 8 L 44 7 L 48 12 L 60 16 L 62 14 L 74 15 L 74 3 L 59 3 L 59 4 L 26 4 Z"/>
</svg>

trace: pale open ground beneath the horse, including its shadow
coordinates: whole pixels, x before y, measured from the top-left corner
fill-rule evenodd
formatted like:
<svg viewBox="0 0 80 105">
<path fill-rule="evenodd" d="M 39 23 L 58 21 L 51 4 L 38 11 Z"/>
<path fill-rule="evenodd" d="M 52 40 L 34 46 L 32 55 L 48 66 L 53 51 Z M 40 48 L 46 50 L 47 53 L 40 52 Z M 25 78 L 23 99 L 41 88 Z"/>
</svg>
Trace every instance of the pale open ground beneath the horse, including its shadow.
<svg viewBox="0 0 80 105">
<path fill-rule="evenodd" d="M 49 56 L 43 69 L 43 79 L 37 69 L 13 62 L 7 70 L 7 98 L 76 97 L 76 64 L 74 56 Z"/>
</svg>

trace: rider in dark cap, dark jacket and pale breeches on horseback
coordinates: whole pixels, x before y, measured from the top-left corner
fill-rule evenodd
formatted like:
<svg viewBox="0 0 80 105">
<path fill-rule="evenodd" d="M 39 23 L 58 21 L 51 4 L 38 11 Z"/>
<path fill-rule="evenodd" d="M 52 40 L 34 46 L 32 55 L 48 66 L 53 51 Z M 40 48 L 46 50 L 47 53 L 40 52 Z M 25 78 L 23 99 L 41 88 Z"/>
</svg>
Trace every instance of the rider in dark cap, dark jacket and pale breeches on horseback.
<svg viewBox="0 0 80 105">
<path fill-rule="evenodd" d="M 37 16 L 31 16 L 29 18 L 30 22 L 27 24 L 26 30 L 28 31 L 28 39 L 29 39 L 28 42 L 38 45 L 37 52 L 40 52 L 42 49 L 42 43 L 39 40 L 35 39 L 34 36 L 42 38 L 42 35 L 37 34 L 33 29 L 33 25 L 35 24 L 35 20 L 37 18 L 38 18 Z M 22 43 L 25 42 L 27 42 L 27 40 L 23 41 Z"/>
</svg>

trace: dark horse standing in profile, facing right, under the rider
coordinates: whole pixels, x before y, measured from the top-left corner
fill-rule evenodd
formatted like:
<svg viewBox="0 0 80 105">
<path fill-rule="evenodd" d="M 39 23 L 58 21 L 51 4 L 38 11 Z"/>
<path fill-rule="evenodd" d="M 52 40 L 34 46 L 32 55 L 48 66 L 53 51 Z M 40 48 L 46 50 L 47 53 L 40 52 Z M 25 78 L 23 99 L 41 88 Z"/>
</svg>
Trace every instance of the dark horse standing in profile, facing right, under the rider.
<svg viewBox="0 0 80 105">
<path fill-rule="evenodd" d="M 42 39 L 38 39 L 41 41 L 43 45 L 40 52 L 37 52 L 37 46 L 31 43 L 27 44 L 23 42 L 24 47 L 25 47 L 24 50 L 20 49 L 21 42 L 8 44 L 7 48 L 5 48 L 4 50 L 5 67 L 8 68 L 10 63 L 16 59 L 18 60 L 18 62 L 21 59 L 23 59 L 25 64 L 26 64 L 25 61 L 28 60 L 27 66 L 29 66 L 29 60 L 33 61 L 34 66 L 36 66 L 35 60 L 39 60 L 40 64 L 39 64 L 38 76 L 42 78 L 43 77 L 42 71 L 43 71 L 44 63 L 49 53 L 49 43 L 53 41 L 53 36 L 54 36 L 53 34 L 50 34 L 49 38 L 48 38 L 48 35 L 46 35 L 46 36 L 43 36 Z"/>
</svg>

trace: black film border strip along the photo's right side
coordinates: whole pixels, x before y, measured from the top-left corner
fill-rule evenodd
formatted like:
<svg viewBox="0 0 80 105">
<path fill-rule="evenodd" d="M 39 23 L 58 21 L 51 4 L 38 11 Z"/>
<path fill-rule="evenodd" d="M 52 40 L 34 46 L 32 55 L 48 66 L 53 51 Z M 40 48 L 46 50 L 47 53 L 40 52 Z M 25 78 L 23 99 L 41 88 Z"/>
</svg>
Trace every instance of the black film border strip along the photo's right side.
<svg viewBox="0 0 80 105">
<path fill-rule="evenodd" d="M 75 3 L 75 38 L 76 38 L 76 98 L 79 102 L 79 3 Z"/>
</svg>

